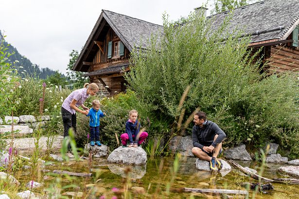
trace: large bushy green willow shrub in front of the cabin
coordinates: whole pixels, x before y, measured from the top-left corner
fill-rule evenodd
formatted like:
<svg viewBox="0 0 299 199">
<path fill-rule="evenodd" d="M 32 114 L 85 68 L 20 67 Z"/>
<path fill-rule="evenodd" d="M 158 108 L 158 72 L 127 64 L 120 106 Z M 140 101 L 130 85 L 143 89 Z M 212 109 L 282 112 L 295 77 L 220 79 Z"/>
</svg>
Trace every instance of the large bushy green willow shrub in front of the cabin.
<svg viewBox="0 0 299 199">
<path fill-rule="evenodd" d="M 299 144 L 287 141 L 298 133 L 296 78 L 260 75 L 260 61 L 252 62 L 255 55 L 247 49 L 249 38 L 226 32 L 229 19 L 215 30 L 213 19 L 206 17 L 190 15 L 189 23 L 175 26 L 164 16 L 164 32 L 152 36 L 147 50 L 133 51 L 125 79 L 169 124 L 176 123 L 182 109 L 186 119 L 199 107 L 225 130 L 227 146 L 258 147 L 276 140 L 299 156 Z M 190 91 L 179 107 L 188 85 Z"/>
</svg>

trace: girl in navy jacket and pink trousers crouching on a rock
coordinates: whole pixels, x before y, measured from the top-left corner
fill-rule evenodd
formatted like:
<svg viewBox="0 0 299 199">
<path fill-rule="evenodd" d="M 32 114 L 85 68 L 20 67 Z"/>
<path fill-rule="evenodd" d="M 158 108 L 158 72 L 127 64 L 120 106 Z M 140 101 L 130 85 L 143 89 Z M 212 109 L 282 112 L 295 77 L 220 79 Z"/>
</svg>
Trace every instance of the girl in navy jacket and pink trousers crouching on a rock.
<svg viewBox="0 0 299 199">
<path fill-rule="evenodd" d="M 140 123 L 137 120 L 138 112 L 131 110 L 129 120 L 125 123 L 125 133 L 121 135 L 123 147 L 127 147 L 127 141 L 130 141 L 129 147 L 139 147 L 147 137 L 146 132 L 139 133 Z"/>
</svg>

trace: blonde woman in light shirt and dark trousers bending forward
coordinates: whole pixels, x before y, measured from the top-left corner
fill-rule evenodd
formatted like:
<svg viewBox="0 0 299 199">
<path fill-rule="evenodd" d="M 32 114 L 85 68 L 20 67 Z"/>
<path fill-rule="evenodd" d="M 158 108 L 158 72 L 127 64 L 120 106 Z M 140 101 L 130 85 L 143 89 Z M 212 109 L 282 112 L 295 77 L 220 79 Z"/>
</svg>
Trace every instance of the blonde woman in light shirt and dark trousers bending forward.
<svg viewBox="0 0 299 199">
<path fill-rule="evenodd" d="M 99 92 L 99 86 L 96 83 L 85 83 L 84 88 L 74 90 L 71 94 L 63 101 L 61 106 L 61 115 L 63 121 L 63 137 L 69 135 L 69 129 L 72 127 L 73 131 L 76 132 L 76 111 L 88 115 L 89 109 L 84 106 L 85 100 L 89 97 L 89 95 L 94 96 L 97 92 Z M 78 106 L 81 106 L 83 110 L 79 109 Z"/>
</svg>

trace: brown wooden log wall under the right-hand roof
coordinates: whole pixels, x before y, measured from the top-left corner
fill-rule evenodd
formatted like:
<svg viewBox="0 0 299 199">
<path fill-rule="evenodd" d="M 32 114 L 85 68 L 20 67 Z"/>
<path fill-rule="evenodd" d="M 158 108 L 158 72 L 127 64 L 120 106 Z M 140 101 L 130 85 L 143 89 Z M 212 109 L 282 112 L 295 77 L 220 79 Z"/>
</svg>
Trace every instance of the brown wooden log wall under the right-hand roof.
<svg viewBox="0 0 299 199">
<path fill-rule="evenodd" d="M 268 69 L 270 73 L 299 72 L 299 50 L 286 48 L 281 45 L 271 46 L 271 56 L 266 61 L 268 62 L 265 65 L 265 69 Z"/>
</svg>

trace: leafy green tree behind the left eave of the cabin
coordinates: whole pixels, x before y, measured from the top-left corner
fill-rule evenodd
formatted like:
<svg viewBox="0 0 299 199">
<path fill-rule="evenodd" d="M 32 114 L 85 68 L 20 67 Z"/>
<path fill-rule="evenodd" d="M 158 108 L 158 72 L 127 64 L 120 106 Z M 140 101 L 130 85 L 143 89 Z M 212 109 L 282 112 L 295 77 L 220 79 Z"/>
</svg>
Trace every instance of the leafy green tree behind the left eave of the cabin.
<svg viewBox="0 0 299 199">
<path fill-rule="evenodd" d="M 67 74 L 68 77 L 70 78 L 70 82 L 73 84 L 74 87 L 82 87 L 84 83 L 88 82 L 88 78 L 82 77 L 82 75 L 84 74 L 83 72 L 72 70 L 72 68 L 76 64 L 79 53 L 77 50 L 72 50 L 69 56 L 70 56 L 70 61 L 67 67 L 67 71 L 68 71 Z"/>
</svg>

